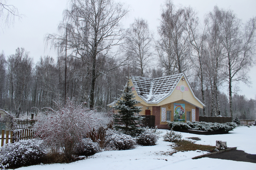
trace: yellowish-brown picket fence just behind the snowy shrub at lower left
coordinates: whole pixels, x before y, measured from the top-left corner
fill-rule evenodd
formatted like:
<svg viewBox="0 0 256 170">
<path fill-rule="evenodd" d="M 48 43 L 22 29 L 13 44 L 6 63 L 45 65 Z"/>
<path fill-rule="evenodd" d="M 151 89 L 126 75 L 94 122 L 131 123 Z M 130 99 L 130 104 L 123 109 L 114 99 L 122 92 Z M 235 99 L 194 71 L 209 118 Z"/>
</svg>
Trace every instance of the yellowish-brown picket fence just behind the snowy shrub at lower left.
<svg viewBox="0 0 256 170">
<path fill-rule="evenodd" d="M 5 139 L 5 144 L 9 143 L 14 143 L 18 142 L 20 140 L 28 140 L 28 139 L 33 139 L 34 138 L 34 130 L 33 129 L 20 129 L 17 130 L 15 133 L 13 131 L 10 132 L 10 137 L 9 137 L 9 130 L 6 130 L 6 137 L 4 137 L 4 129 L 2 130 L 2 137 L 1 139 L 1 146 L 4 145 L 4 139 Z"/>
</svg>

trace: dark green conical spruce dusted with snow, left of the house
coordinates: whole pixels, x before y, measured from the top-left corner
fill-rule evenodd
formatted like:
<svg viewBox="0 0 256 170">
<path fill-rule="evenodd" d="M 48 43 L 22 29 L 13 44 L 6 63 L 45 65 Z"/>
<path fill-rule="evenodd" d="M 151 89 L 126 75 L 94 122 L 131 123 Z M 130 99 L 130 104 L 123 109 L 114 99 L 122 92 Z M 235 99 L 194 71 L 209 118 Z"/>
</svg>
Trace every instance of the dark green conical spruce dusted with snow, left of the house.
<svg viewBox="0 0 256 170">
<path fill-rule="evenodd" d="M 136 106 L 140 102 L 134 99 L 132 86 L 129 86 L 129 83 L 124 86 L 124 90 L 121 90 L 121 92 L 121 98 L 116 99 L 117 104 L 113 107 L 118 111 L 114 114 L 114 127 L 126 135 L 136 136 L 140 131 L 142 120 L 139 115 L 141 107 Z"/>
</svg>

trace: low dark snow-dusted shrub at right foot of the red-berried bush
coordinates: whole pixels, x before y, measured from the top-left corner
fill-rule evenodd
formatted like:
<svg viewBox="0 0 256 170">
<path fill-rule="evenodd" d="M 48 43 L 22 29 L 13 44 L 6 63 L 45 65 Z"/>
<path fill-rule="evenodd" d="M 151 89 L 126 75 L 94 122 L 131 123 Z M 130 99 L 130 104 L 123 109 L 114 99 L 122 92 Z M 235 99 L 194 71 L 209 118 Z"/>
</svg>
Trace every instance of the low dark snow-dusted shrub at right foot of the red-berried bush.
<svg viewBox="0 0 256 170">
<path fill-rule="evenodd" d="M 77 156 L 88 156 L 97 152 L 101 152 L 100 145 L 88 138 L 83 138 L 75 149 Z"/>
</svg>

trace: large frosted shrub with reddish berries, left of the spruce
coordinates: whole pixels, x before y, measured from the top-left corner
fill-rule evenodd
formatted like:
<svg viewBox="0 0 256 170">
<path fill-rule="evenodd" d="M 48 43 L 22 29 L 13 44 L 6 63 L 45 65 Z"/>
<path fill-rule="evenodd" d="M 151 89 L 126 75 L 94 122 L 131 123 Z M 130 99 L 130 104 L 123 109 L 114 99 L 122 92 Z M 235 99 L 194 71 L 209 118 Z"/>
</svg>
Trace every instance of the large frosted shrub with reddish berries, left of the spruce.
<svg viewBox="0 0 256 170">
<path fill-rule="evenodd" d="M 48 112 L 40 114 L 35 135 L 43 139 L 52 152 L 63 153 L 66 160 L 71 160 L 82 138 L 93 128 L 106 126 L 109 118 L 105 113 L 84 107 L 84 103 L 76 104 L 75 100 L 68 99 L 65 106 L 57 105 L 57 110 L 48 108 Z"/>
</svg>

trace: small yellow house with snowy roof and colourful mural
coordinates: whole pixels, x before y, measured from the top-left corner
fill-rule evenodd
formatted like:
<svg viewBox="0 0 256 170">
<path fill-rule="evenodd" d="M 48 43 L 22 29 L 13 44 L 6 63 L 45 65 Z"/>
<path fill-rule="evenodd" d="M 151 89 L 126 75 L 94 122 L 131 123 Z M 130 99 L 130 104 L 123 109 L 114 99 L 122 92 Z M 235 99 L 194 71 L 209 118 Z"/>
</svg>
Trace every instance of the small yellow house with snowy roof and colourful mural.
<svg viewBox="0 0 256 170">
<path fill-rule="evenodd" d="M 128 81 L 140 101 L 140 115 L 154 115 L 159 129 L 169 129 L 170 121 L 199 121 L 199 108 L 205 105 L 196 98 L 184 73 L 154 79 L 130 76 Z"/>
</svg>

